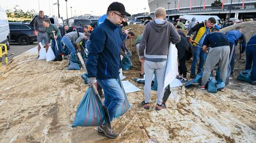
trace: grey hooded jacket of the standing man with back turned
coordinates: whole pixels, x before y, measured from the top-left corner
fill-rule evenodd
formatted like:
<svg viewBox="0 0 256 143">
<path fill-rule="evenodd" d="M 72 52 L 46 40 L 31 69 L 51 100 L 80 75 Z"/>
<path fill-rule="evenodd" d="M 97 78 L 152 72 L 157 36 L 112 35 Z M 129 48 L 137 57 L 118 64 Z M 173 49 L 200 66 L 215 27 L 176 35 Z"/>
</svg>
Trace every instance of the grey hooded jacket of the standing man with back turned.
<svg viewBox="0 0 256 143">
<path fill-rule="evenodd" d="M 157 24 L 155 20 L 146 24 L 140 41 L 139 55 L 145 58 L 167 59 L 169 44 L 177 44 L 180 41 L 180 35 L 175 27 L 169 21 L 163 24 Z"/>
</svg>

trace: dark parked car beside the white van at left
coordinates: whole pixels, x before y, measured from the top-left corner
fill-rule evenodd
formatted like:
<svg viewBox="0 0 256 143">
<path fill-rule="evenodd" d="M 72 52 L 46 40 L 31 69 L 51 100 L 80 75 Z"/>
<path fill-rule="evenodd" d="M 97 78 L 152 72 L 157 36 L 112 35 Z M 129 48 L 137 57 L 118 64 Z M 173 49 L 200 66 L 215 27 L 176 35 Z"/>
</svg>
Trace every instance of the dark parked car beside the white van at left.
<svg viewBox="0 0 256 143">
<path fill-rule="evenodd" d="M 20 45 L 29 45 L 37 41 L 34 27 L 28 23 L 9 22 L 11 40 L 10 42 L 19 43 Z"/>
</svg>

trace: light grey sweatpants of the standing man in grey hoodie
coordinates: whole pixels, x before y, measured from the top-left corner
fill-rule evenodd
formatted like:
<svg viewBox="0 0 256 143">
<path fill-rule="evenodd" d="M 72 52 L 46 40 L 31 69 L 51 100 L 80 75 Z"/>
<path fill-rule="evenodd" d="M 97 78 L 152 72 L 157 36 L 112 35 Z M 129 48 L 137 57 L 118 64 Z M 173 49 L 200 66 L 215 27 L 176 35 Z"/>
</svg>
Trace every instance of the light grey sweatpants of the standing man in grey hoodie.
<svg viewBox="0 0 256 143">
<path fill-rule="evenodd" d="M 145 60 L 144 62 L 144 71 L 145 71 L 145 86 L 144 86 L 144 95 L 145 103 L 150 101 L 150 91 L 151 91 L 151 82 L 154 75 L 156 74 L 157 79 L 157 104 L 161 105 L 163 96 L 164 96 L 164 75 L 166 69 L 166 63 L 164 62 L 150 62 Z"/>
</svg>

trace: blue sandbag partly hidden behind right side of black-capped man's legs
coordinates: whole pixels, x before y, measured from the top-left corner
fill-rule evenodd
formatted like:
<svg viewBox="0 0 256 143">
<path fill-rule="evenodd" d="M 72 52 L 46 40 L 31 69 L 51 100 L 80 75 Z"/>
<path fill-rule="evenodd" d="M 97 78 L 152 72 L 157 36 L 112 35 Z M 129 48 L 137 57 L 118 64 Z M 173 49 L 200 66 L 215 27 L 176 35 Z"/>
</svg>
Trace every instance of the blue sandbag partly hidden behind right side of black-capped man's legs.
<svg viewBox="0 0 256 143">
<path fill-rule="evenodd" d="M 123 84 L 122 84 L 122 81 L 120 79 L 120 77 L 118 76 L 118 83 L 120 85 L 120 87 L 122 88 L 123 92 L 124 92 L 124 102 L 121 106 L 118 107 L 117 111 L 116 111 L 116 114 L 114 116 L 114 118 L 118 118 L 119 116 L 122 116 L 124 113 L 126 113 L 129 108 L 131 107 L 129 101 L 128 101 L 128 98 L 126 96 L 126 93 L 124 91 L 124 87 L 123 87 Z"/>
</svg>

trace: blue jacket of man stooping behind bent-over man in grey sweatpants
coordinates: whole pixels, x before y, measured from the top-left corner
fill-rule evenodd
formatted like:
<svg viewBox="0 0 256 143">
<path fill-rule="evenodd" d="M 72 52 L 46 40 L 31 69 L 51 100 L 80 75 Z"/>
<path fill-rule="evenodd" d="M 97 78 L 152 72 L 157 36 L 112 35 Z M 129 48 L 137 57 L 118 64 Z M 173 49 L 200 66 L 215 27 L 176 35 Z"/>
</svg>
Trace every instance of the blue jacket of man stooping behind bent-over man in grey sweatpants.
<svg viewBox="0 0 256 143">
<path fill-rule="evenodd" d="M 228 41 L 232 43 L 233 45 L 237 45 L 237 40 L 243 40 L 242 42 L 242 48 L 246 47 L 246 40 L 245 36 L 242 32 L 239 32 L 239 30 L 231 30 L 226 33 L 226 37 L 228 38 Z"/>
</svg>

